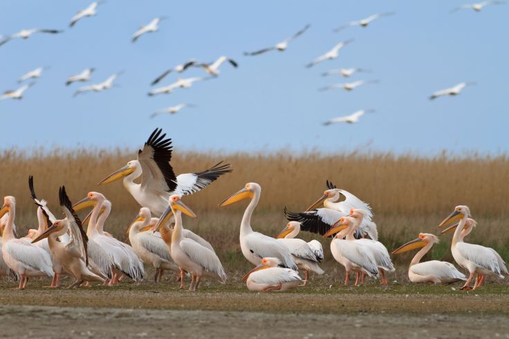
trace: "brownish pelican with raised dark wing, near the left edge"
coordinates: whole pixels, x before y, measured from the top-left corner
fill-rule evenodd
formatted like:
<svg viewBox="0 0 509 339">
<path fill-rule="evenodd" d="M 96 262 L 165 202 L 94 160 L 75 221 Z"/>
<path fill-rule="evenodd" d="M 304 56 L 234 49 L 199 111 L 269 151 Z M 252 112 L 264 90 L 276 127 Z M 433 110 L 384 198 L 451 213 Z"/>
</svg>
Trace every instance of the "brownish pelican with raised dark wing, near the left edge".
<svg viewBox="0 0 509 339">
<path fill-rule="evenodd" d="M 86 254 L 86 237 L 80 218 L 73 210 L 73 204 L 66 194 L 66 187 L 62 186 L 59 190 L 59 201 L 65 219 L 57 220 L 43 234 L 33 239 L 32 244 L 41 239 L 48 238 L 51 254 L 64 270 L 73 275 L 75 282 L 68 288 L 80 287 L 83 282 L 104 282 L 104 278 L 95 275 L 89 270 L 89 256 Z M 67 243 L 60 242 L 57 238 L 69 232 L 70 237 Z"/>
</svg>

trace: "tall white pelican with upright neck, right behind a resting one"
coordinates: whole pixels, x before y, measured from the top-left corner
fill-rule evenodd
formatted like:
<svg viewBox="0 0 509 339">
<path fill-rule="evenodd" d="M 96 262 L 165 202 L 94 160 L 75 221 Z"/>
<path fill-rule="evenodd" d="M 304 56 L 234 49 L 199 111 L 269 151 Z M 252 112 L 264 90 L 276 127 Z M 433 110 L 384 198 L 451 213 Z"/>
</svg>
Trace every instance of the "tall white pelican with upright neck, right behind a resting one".
<svg viewBox="0 0 509 339">
<path fill-rule="evenodd" d="M 264 257 L 276 257 L 283 265 L 297 271 L 288 247 L 277 239 L 254 232 L 251 228 L 251 215 L 260 199 L 261 186 L 257 183 L 246 183 L 246 186 L 237 193 L 225 199 L 219 206 L 228 206 L 244 199 L 250 199 L 248 208 L 242 217 L 240 242 L 242 254 L 253 265 L 259 265 Z"/>
</svg>

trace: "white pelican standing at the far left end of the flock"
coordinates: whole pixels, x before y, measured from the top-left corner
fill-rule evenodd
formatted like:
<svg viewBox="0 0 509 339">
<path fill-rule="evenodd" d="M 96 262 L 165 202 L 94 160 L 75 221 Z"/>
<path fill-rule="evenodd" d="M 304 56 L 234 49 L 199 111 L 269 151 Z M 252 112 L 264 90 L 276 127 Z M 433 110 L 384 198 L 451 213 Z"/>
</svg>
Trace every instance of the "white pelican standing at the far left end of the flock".
<svg viewBox="0 0 509 339">
<path fill-rule="evenodd" d="M 16 199 L 14 196 L 5 196 L 0 209 L 0 218 L 6 213 L 9 216 L 2 233 L 2 255 L 7 266 L 19 277 L 17 289 L 26 288 L 29 277 L 53 277 L 50 255 L 30 242 L 16 239 L 12 226 L 16 215 Z"/>
</svg>

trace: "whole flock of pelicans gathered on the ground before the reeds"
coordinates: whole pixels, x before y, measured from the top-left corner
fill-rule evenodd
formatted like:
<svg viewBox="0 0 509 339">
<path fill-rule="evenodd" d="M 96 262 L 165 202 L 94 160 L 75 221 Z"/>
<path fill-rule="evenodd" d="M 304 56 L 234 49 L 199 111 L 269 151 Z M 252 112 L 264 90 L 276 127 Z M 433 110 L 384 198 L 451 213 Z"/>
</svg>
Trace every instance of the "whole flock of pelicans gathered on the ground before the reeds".
<svg viewBox="0 0 509 339">
<path fill-rule="evenodd" d="M 202 237 L 183 228 L 183 215 L 196 218 L 182 198 L 232 172 L 222 162 L 207 170 L 176 176 L 169 161 L 172 158 L 172 140 L 165 138 L 161 129 L 149 136 L 138 152 L 138 159 L 129 161 L 113 172 L 99 185 L 122 178 L 124 187 L 142 206 L 126 232 L 131 245 L 115 239 L 104 230 L 111 212 L 111 202 L 99 192 L 89 192 L 84 199 L 72 203 L 64 186 L 59 189 L 59 203 L 64 219 L 56 219 L 46 201 L 35 194 L 34 180 L 28 185 L 37 205 L 37 230 L 29 230 L 26 237 L 17 238 L 15 226 L 16 199 L 5 196 L 0 209 L 1 257 L 0 274 L 19 280 L 17 288 L 26 288 L 30 277 L 53 277 L 50 287 L 60 286 L 62 275 L 75 279 L 69 287 L 90 285 L 91 282 L 114 285 L 126 276 L 139 282 L 144 277 L 144 265 L 156 269 L 154 280 L 159 282 L 164 271 L 176 271 L 185 287 L 185 278 L 191 277 L 190 291 L 196 291 L 202 277 L 225 282 L 226 273 L 214 248 Z M 140 178 L 140 183 L 135 180 Z M 261 187 L 247 183 L 239 192 L 225 199 L 220 206 L 248 200 L 240 226 L 241 250 L 254 265 L 243 280 L 250 291 L 286 291 L 306 285 L 310 272 L 323 274 L 320 262 L 324 250 L 317 240 L 298 239 L 300 230 L 323 237 L 332 237 L 331 253 L 344 266 L 349 284 L 355 274 L 355 285 L 364 284 L 366 276 L 380 278 L 387 284 L 386 273 L 394 265 L 385 246 L 378 241 L 378 230 L 373 212 L 367 203 L 333 183 L 326 182 L 327 190 L 304 212 L 284 210 L 288 224 L 277 237 L 269 237 L 252 230 L 250 219 L 256 208 Z M 344 200 L 342 200 L 344 198 Z M 83 221 L 77 211 L 91 208 Z M 153 215 L 157 217 L 153 217 Z M 87 226 L 86 232 L 84 226 Z M 503 259 L 492 248 L 465 242 L 476 222 L 467 206 L 456 206 L 439 227 L 442 233 L 454 232 L 452 255 L 456 264 L 468 271 L 466 277 L 449 262 L 432 260 L 420 262 L 438 242 L 438 237 L 420 233 L 394 250 L 392 254 L 420 248 L 409 266 L 411 282 L 450 284 L 465 281 L 462 289 L 484 284 L 486 275 L 501 278 L 508 275 Z M 301 277 L 299 273 L 304 273 Z"/>
</svg>

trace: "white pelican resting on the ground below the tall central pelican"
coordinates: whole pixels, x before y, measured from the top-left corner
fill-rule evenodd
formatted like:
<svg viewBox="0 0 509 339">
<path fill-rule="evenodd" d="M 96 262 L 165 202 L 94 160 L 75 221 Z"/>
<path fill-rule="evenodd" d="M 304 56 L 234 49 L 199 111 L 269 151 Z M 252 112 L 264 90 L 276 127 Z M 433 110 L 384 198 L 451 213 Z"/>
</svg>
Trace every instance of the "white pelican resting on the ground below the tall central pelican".
<svg viewBox="0 0 509 339">
<path fill-rule="evenodd" d="M 279 267 L 281 260 L 277 258 L 262 258 L 261 264 L 248 272 L 242 281 L 246 282 L 249 291 L 288 291 L 306 280 L 299 277 L 299 273 L 290 268 Z"/>
</svg>

